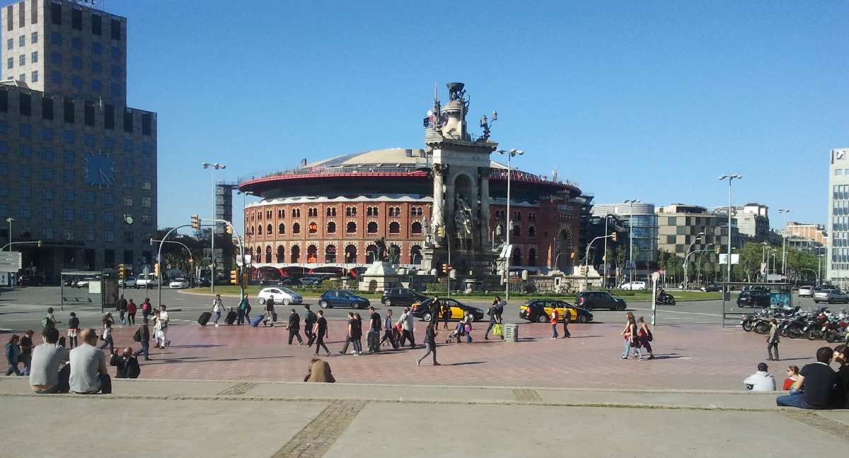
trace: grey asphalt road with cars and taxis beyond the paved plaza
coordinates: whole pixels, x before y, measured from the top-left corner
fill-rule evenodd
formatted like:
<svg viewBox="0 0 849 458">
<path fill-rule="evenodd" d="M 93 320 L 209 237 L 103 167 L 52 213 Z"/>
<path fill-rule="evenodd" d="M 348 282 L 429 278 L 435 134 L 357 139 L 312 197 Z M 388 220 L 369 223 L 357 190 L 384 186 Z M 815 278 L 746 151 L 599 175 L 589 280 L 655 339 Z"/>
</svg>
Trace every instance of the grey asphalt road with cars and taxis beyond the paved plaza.
<svg viewBox="0 0 849 458">
<path fill-rule="evenodd" d="M 674 292 L 673 292 L 674 293 Z M 154 300 L 157 296 L 155 289 L 145 291 L 143 289 L 127 289 L 125 297 L 132 298 L 136 304 L 141 304 L 145 297 L 151 297 Z M 733 298 L 734 299 L 734 298 Z M 237 298 L 224 297 L 224 305 L 228 308 L 235 306 Z M 168 305 L 171 310 L 172 324 L 174 325 L 191 325 L 197 326 L 196 321 L 198 316 L 205 311 L 210 310 L 212 297 L 209 295 L 180 293 L 177 290 L 163 289 L 162 302 Z M 486 310 L 491 301 L 484 299 L 469 299 L 462 300 L 469 305 L 474 305 Z M 511 300 L 504 309 L 505 322 L 520 322 L 519 306 L 521 300 Z M 318 310 L 317 299 L 306 298 L 305 304 L 311 304 L 312 310 Z M 380 315 L 385 314 L 385 306 L 373 301 L 375 308 L 380 312 Z M 810 298 L 793 298 L 793 304 L 801 304 L 805 309 L 814 307 L 813 301 Z M 256 301 L 256 298 L 251 298 L 251 306 L 253 312 L 261 310 L 261 305 Z M 58 287 L 42 287 L 42 288 L 19 288 L 14 290 L 3 290 L 0 295 L 0 332 L 19 332 L 25 329 L 38 330 L 41 327 L 41 320 L 48 307 L 53 307 L 54 314 L 62 321 L 62 324 L 68 321 L 68 314 L 71 311 L 76 312 L 76 316 L 80 318 L 81 327 L 100 327 L 100 319 L 102 316 L 100 310 L 100 296 L 89 294 L 85 289 L 65 288 L 65 310 L 60 310 L 60 290 Z M 843 304 L 835 304 L 831 306 L 834 310 L 839 310 L 845 307 Z M 395 316 L 398 316 L 401 307 L 391 307 Z M 289 315 L 291 307 L 284 307 L 282 304 L 277 305 L 278 321 L 284 321 Z M 302 306 L 295 306 L 295 309 L 303 314 Z M 628 302 L 628 308 L 636 316 L 644 316 L 646 321 L 650 322 L 652 315 L 651 304 L 648 302 Z M 107 310 L 110 311 L 110 310 Z M 329 320 L 344 320 L 349 309 L 331 309 L 325 310 L 325 316 Z M 736 304 L 728 303 L 727 310 L 729 314 L 751 313 L 752 309 L 739 309 Z M 368 310 L 358 310 L 363 318 L 365 318 Z M 115 318 L 117 318 L 115 314 Z M 623 321 L 624 312 L 613 312 L 608 310 L 593 310 L 593 318 L 595 322 L 619 322 Z M 141 316 L 139 311 L 137 316 Z M 736 315 L 729 316 L 726 324 L 737 324 Z M 222 318 L 223 321 L 223 318 Z M 678 302 L 674 306 L 658 307 L 656 312 L 657 325 L 686 325 L 686 324 L 717 324 L 722 323 L 722 301 L 721 300 L 705 300 L 705 301 L 690 301 Z M 59 329 L 63 329 L 62 324 Z"/>
</svg>

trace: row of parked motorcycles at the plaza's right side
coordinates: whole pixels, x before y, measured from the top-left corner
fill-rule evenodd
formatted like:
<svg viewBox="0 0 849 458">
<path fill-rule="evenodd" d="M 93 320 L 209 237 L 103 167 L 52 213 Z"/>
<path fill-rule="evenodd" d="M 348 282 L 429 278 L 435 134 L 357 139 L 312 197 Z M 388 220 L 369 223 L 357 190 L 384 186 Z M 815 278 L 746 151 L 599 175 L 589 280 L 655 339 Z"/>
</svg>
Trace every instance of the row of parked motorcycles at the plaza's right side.
<svg viewBox="0 0 849 458">
<path fill-rule="evenodd" d="M 779 334 L 782 337 L 810 340 L 821 338 L 828 343 L 849 344 L 849 312 L 846 307 L 840 312 L 831 311 L 828 307 L 817 307 L 812 311 L 801 310 L 798 306 L 791 309 L 764 309 L 743 316 L 740 326 L 745 332 L 766 334 L 773 318 L 779 321 Z"/>
</svg>

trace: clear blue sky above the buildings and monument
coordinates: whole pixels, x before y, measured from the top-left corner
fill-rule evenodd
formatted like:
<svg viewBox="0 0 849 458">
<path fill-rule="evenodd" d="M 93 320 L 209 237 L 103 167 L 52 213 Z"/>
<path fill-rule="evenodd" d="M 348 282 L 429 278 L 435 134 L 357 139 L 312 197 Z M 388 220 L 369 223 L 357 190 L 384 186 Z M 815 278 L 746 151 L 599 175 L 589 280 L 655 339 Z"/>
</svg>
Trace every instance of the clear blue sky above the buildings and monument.
<svg viewBox="0 0 849 458">
<path fill-rule="evenodd" d="M 475 130 L 498 109 L 492 138 L 526 150 L 521 169 L 556 167 L 598 203 L 724 205 L 717 176 L 740 173 L 734 204 L 767 204 L 773 227 L 826 221 L 849 3 L 450 4 L 109 0 L 129 103 L 159 113 L 160 226 L 210 212 L 205 160 L 235 179 L 421 147 L 434 81 L 443 101 L 466 83 Z"/>
</svg>

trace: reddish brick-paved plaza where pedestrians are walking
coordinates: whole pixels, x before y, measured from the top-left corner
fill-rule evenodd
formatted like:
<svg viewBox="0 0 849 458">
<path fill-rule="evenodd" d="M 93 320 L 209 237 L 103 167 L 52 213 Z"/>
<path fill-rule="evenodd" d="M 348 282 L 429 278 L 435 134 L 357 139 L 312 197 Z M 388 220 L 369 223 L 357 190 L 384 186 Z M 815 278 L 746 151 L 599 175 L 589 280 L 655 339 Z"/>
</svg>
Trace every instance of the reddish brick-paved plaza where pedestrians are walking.
<svg viewBox="0 0 849 458">
<path fill-rule="evenodd" d="M 765 337 L 739 328 L 681 325 L 655 328 L 656 360 L 621 360 L 621 326 L 613 323 L 571 325 L 572 338 L 553 340 L 547 324 L 521 324 L 520 342 L 484 340 L 486 324 L 472 332 L 472 344 L 438 345 L 443 366 L 421 367 L 415 360 L 423 349 L 383 351 L 376 355 L 339 355 L 344 323 L 329 321 L 328 347 L 333 373 L 346 383 L 409 383 L 565 388 L 739 389 L 766 355 Z M 417 322 L 417 343 L 424 324 Z M 559 332 L 562 331 L 562 327 Z M 115 329 L 115 342 L 138 348 L 133 328 Z M 140 361 L 145 378 L 193 380 L 301 381 L 313 349 L 285 343 L 284 327 L 200 327 L 173 323 L 171 347 L 151 352 Z M 440 331 L 437 339 L 447 335 Z M 365 345 L 363 338 L 363 345 Z M 812 362 L 823 341 L 785 338 L 786 360 L 770 364 L 779 380 L 793 364 Z M 384 347 L 389 349 L 390 347 Z M 349 349 L 350 351 L 350 349 Z"/>
</svg>

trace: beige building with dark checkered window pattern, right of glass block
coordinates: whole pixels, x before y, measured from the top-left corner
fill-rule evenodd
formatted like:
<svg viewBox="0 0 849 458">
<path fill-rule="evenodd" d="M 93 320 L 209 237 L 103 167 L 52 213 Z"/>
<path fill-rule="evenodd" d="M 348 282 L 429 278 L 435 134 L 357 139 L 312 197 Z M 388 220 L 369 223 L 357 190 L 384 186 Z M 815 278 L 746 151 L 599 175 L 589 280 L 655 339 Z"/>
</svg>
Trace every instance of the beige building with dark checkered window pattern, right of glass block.
<svg viewBox="0 0 849 458">
<path fill-rule="evenodd" d="M 690 244 L 693 250 L 707 249 L 728 251 L 728 213 L 709 212 L 699 205 L 670 204 L 655 209 L 657 215 L 657 249 L 684 257 Z M 694 243 L 700 233 L 704 236 Z M 730 242 L 733 248 L 739 247 L 741 236 L 737 221 L 731 219 Z"/>
</svg>

